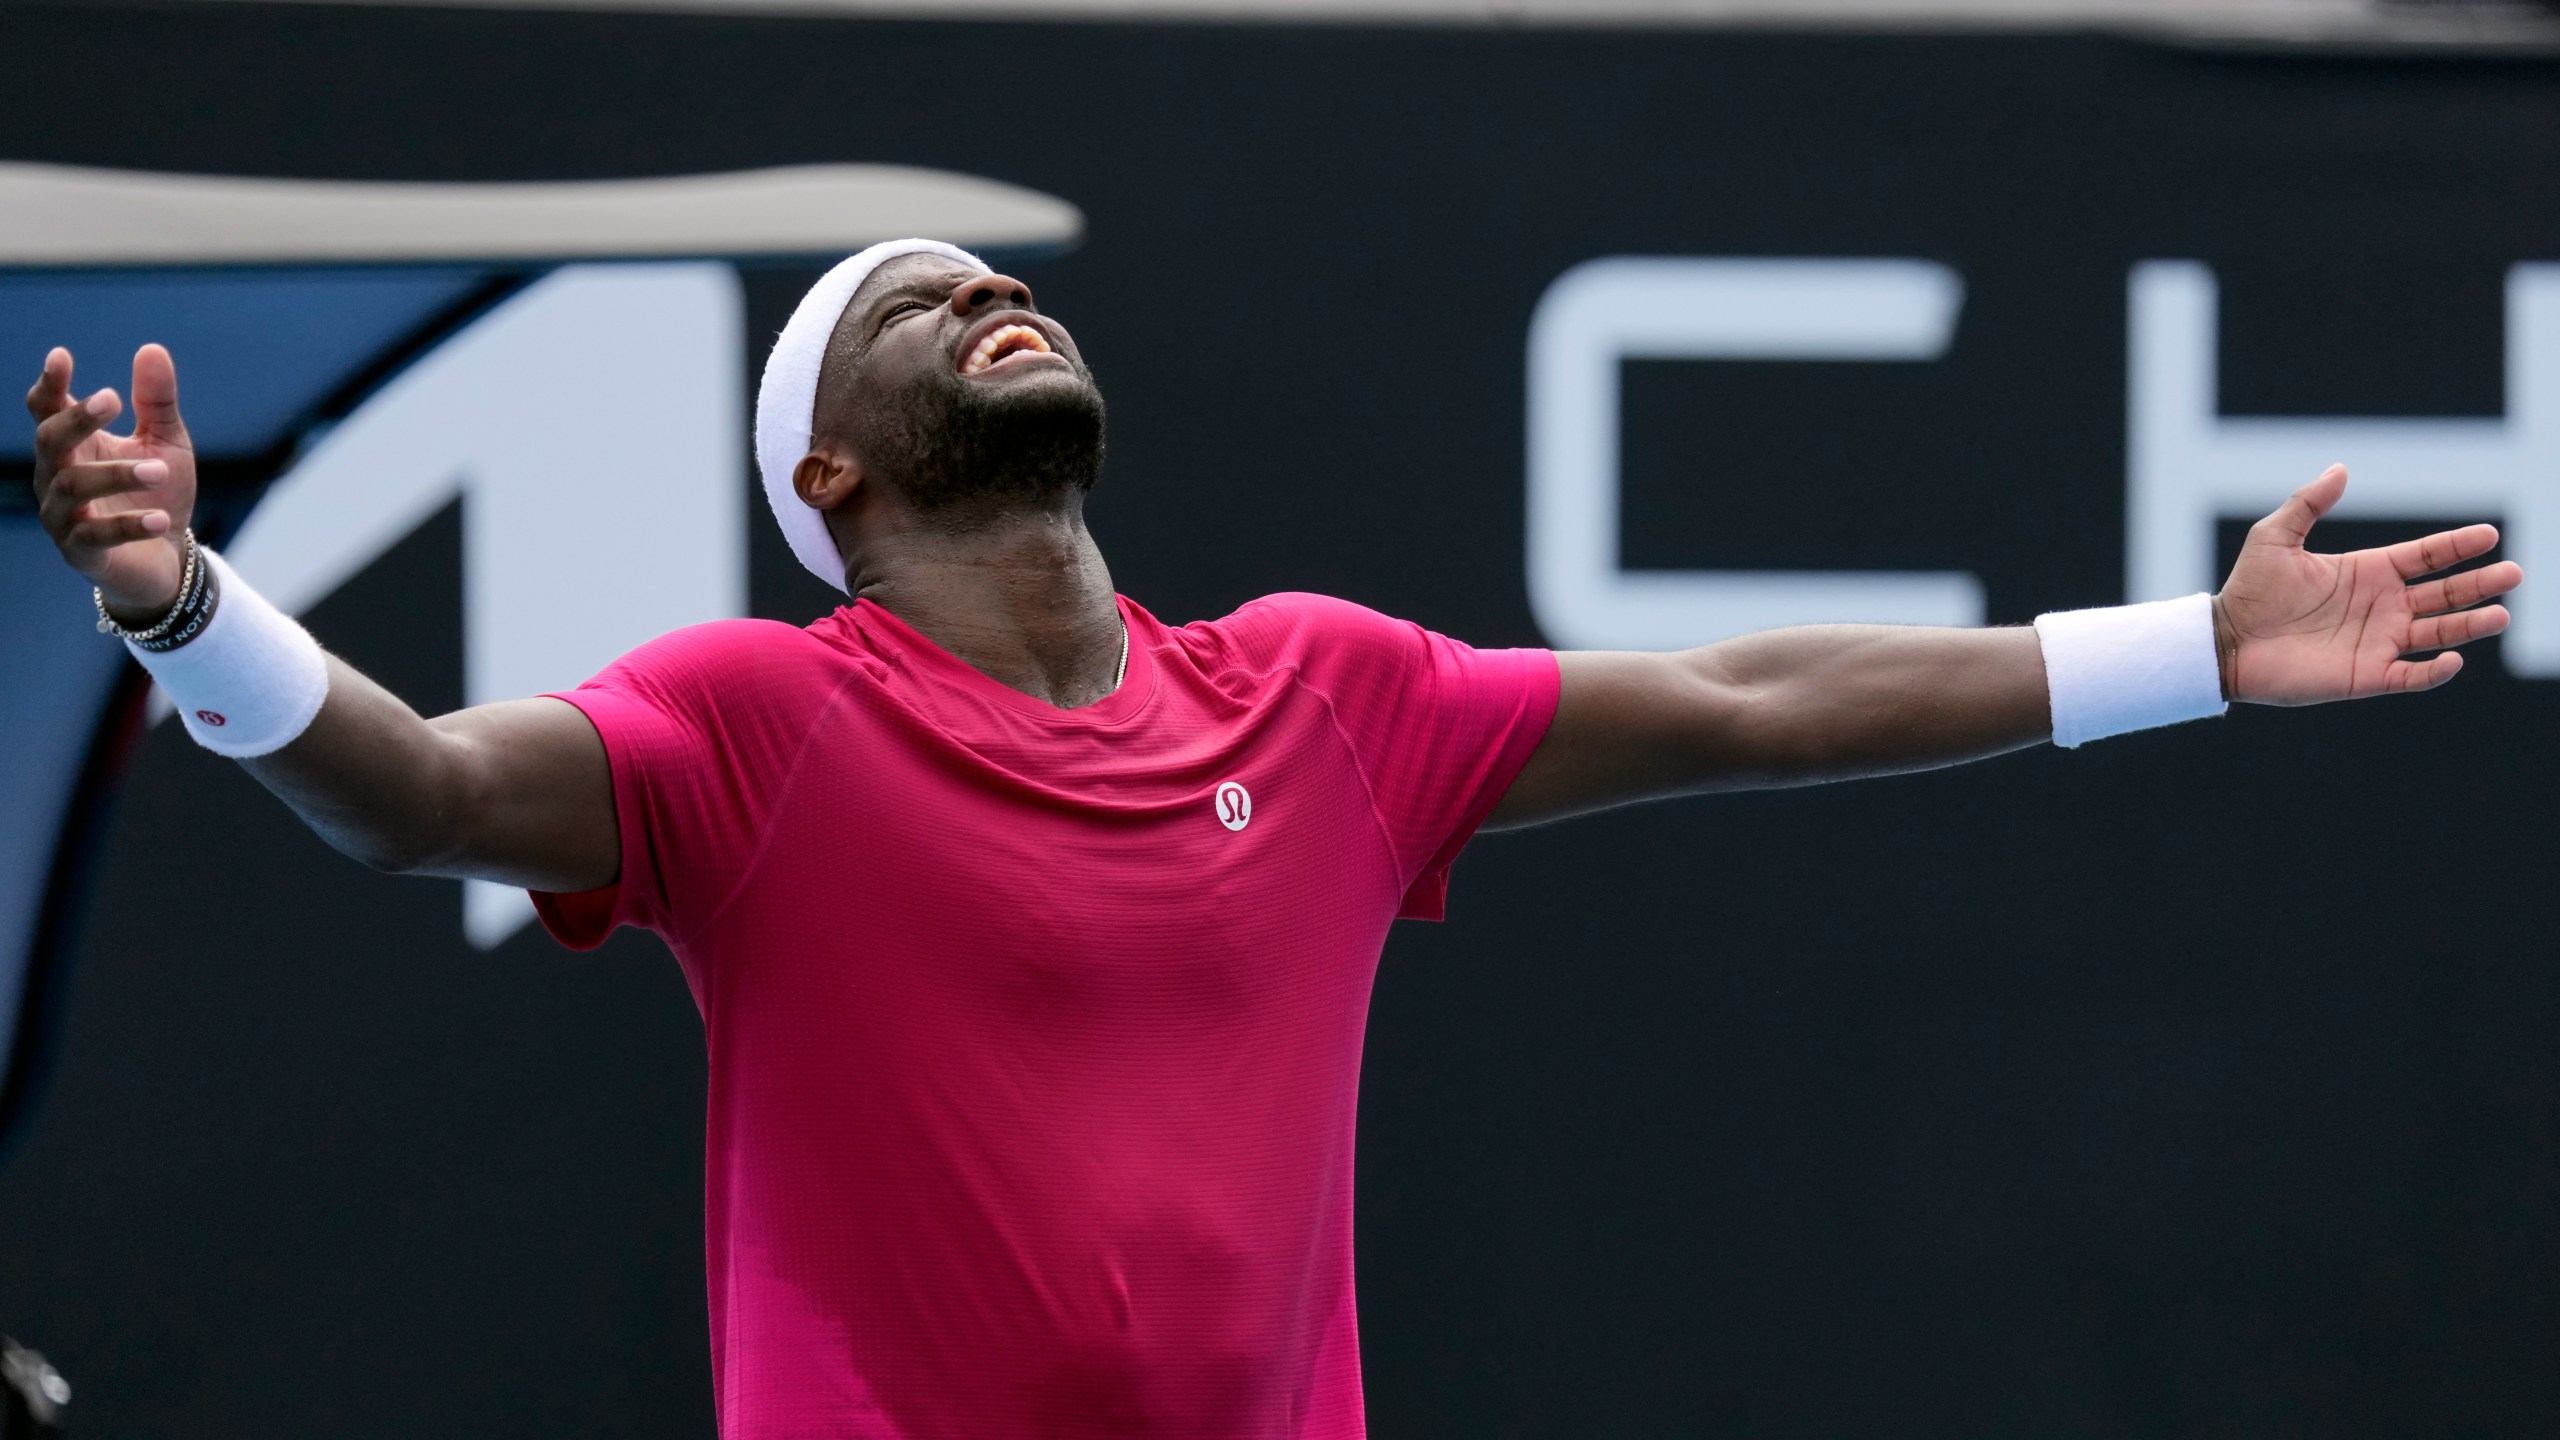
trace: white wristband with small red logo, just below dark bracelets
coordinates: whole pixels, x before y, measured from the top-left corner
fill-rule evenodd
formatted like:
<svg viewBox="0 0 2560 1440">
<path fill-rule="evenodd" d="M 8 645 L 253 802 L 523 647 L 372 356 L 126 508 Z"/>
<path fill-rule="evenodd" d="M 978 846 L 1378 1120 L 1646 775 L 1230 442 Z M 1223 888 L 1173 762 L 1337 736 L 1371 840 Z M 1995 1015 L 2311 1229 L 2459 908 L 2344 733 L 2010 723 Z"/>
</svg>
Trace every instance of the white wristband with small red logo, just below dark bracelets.
<svg viewBox="0 0 2560 1440">
<path fill-rule="evenodd" d="M 282 751 L 328 700 L 328 656 L 223 556 L 205 551 L 205 564 L 223 587 L 205 630 L 174 651 L 151 653 L 131 641 L 125 648 L 177 705 L 197 746 L 230 758 Z"/>
</svg>

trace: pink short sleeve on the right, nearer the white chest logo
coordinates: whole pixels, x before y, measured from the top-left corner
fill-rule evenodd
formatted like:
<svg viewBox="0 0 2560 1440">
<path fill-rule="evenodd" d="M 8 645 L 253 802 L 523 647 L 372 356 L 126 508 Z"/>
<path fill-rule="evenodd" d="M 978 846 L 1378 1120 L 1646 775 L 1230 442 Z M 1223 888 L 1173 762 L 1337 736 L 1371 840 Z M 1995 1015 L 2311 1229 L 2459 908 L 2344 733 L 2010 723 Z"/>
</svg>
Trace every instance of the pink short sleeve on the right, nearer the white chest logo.
<svg viewBox="0 0 2560 1440">
<path fill-rule="evenodd" d="M 1347 600 L 1275 594 L 1275 641 L 1321 689 L 1405 874 L 1403 920 L 1441 920 L 1449 866 L 1546 738 L 1551 651 L 1480 651 Z"/>
</svg>

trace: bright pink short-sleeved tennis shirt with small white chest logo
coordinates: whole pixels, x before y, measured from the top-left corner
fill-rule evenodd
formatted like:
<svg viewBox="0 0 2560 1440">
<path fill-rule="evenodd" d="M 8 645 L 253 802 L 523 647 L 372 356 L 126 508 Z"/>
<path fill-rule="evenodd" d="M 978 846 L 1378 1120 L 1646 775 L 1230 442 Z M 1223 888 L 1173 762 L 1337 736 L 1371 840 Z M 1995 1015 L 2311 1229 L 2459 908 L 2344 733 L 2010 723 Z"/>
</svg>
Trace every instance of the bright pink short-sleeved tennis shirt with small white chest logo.
<svg viewBox="0 0 2560 1440">
<path fill-rule="evenodd" d="M 563 694 L 709 1040 L 730 1440 L 1362 1435 L 1352 1117 L 1388 925 L 1556 707 L 1316 594 L 1057 710 L 888 610 L 678 630 Z"/>
</svg>

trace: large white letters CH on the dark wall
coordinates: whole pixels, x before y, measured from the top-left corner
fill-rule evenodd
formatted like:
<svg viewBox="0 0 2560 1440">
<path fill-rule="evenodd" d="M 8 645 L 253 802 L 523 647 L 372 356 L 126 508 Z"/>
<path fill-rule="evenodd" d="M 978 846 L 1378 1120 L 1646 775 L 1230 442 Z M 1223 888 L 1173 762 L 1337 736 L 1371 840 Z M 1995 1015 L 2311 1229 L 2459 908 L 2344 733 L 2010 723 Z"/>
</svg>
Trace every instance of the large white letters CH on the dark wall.
<svg viewBox="0 0 2560 1440">
<path fill-rule="evenodd" d="M 2560 574 L 2560 266 L 2506 284 L 2504 418 L 2217 413 L 2214 274 L 2132 266 L 2127 297 L 2125 597 L 2214 589 L 2214 525 L 2255 520 L 2353 459 L 2340 518 L 2506 520 L 2506 551 Z M 1946 356 L 1964 279 L 1915 259 L 1610 256 L 1539 300 L 1528 328 L 1528 597 L 1567 648 L 1682 648 L 1777 625 L 1979 625 L 1964 571 L 1633 571 L 1620 566 L 1618 372 L 1638 359 L 1879 361 Z M 1697 456 L 1700 479 L 1720 477 Z M 2560 587 L 2527 587 L 2506 666 L 2560 676 Z"/>
</svg>

